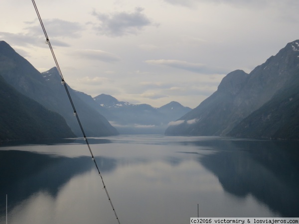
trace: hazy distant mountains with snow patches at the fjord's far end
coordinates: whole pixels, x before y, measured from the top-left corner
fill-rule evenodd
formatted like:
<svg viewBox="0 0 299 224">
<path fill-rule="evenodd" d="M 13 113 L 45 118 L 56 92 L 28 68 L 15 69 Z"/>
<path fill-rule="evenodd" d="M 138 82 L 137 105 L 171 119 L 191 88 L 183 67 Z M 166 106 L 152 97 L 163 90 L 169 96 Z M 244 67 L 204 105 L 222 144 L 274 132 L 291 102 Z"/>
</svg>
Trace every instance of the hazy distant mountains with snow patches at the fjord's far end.
<svg viewBox="0 0 299 224">
<path fill-rule="evenodd" d="M 85 97 L 80 93 L 81 97 Z M 148 104 L 130 104 L 101 94 L 93 98 L 98 111 L 122 134 L 162 134 L 170 121 L 176 120 L 190 108 L 170 102 L 160 108 Z M 92 103 L 89 100 L 90 104 Z"/>
</svg>

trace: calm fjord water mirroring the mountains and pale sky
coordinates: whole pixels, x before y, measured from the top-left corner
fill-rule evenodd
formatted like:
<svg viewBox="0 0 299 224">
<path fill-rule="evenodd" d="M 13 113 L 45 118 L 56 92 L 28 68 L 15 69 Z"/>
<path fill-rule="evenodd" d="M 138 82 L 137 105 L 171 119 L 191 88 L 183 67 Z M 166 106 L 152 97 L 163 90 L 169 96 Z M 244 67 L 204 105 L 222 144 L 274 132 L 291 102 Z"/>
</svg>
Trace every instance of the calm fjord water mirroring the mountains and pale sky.
<svg viewBox="0 0 299 224">
<path fill-rule="evenodd" d="M 89 142 L 122 224 L 299 217 L 298 142 L 121 135 Z M 0 147 L 0 223 L 116 224 L 82 139 Z"/>
</svg>

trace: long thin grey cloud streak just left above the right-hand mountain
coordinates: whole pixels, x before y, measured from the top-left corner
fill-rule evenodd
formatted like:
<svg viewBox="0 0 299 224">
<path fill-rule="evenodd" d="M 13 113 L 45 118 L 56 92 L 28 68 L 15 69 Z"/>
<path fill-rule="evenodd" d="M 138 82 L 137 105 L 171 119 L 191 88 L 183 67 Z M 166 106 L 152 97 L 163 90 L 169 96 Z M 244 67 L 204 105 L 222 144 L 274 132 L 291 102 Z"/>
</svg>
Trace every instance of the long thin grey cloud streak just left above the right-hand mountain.
<svg viewBox="0 0 299 224">
<path fill-rule="evenodd" d="M 227 71 L 222 68 L 217 68 L 217 67 L 212 68 L 204 64 L 190 63 L 190 62 L 180 61 L 180 60 L 164 60 L 164 59 L 147 60 L 146 63 L 150 65 L 163 65 L 163 66 L 178 68 L 178 69 L 187 70 L 195 73 L 201 73 L 201 74 L 226 74 L 227 73 Z"/>
</svg>

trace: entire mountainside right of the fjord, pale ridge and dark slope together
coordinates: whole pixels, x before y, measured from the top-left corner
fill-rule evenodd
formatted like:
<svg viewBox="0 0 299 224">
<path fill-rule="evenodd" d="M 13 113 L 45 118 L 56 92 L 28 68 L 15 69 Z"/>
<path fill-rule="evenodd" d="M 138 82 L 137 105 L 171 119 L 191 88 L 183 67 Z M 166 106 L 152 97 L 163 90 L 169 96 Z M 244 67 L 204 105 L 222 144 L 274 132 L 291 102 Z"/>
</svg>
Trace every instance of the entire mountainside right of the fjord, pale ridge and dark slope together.
<svg viewBox="0 0 299 224">
<path fill-rule="evenodd" d="M 277 55 L 271 56 L 250 74 L 241 70 L 229 73 L 223 78 L 215 93 L 197 108 L 173 122 L 165 134 L 290 138 L 290 135 L 282 132 L 286 129 L 295 131 L 298 128 L 295 127 L 298 120 L 295 115 L 298 76 L 299 40 L 296 40 L 288 43 Z M 282 105 L 286 105 L 287 100 L 290 104 L 286 108 Z M 271 113 L 271 110 L 276 112 Z M 261 121 L 262 114 L 267 113 L 272 115 L 272 119 L 270 123 L 265 122 L 261 127 L 262 123 L 258 120 Z M 286 114 L 294 116 L 292 121 L 287 121 L 283 118 L 274 119 L 274 114 L 284 117 Z M 274 131 L 276 125 L 279 128 Z"/>
</svg>

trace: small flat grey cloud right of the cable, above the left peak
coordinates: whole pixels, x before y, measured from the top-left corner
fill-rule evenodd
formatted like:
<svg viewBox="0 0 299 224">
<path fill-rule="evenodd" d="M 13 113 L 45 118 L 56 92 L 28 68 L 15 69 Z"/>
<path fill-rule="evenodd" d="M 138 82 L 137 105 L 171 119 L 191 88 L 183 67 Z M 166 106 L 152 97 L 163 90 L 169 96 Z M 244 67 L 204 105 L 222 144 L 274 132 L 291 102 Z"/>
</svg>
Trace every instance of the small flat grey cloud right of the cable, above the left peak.
<svg viewBox="0 0 299 224">
<path fill-rule="evenodd" d="M 89 60 L 99 60 L 109 63 L 120 61 L 118 56 L 102 50 L 77 50 L 75 54 L 81 58 L 86 58 Z"/>
</svg>

